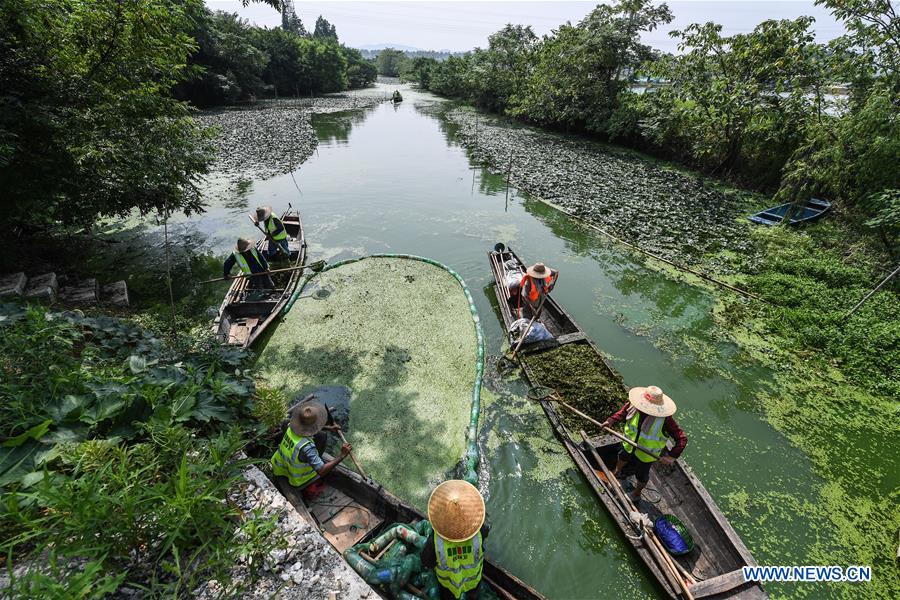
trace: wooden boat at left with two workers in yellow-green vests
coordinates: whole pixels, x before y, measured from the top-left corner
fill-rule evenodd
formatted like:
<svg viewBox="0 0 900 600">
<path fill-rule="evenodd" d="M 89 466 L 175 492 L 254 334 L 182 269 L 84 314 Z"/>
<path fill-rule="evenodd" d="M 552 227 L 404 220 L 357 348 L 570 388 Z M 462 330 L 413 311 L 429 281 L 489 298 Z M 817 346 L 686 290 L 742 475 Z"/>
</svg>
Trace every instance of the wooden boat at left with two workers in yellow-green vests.
<svg viewBox="0 0 900 600">
<path fill-rule="evenodd" d="M 288 233 L 289 265 L 302 267 L 306 264 L 306 239 L 300 213 L 288 208 L 281 215 Z M 256 243 L 261 253 L 268 247 L 263 238 Z M 283 258 L 281 260 L 284 260 Z M 280 267 L 278 267 L 280 268 Z M 213 323 L 216 339 L 229 346 L 249 348 L 281 313 L 302 276 L 302 270 L 278 273 L 272 276 L 274 290 L 250 290 L 250 278 L 235 279 L 225 299 L 219 307 L 219 314 Z"/>
</svg>

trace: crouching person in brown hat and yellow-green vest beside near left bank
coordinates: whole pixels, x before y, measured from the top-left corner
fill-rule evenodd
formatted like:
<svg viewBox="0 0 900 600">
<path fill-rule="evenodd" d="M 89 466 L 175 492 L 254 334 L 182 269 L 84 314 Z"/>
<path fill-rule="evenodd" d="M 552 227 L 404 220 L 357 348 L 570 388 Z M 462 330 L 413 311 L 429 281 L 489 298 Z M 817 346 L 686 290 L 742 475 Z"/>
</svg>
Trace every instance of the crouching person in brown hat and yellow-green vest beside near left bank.
<svg viewBox="0 0 900 600">
<path fill-rule="evenodd" d="M 315 401 L 314 395 L 304 398 L 291 410 L 290 423 L 272 455 L 272 472 L 286 477 L 288 482 L 301 490 L 324 477 L 350 455 L 350 444 L 341 446 L 340 453 L 325 462 L 325 430 L 337 431 L 340 425 L 328 424 L 328 409 Z"/>
</svg>

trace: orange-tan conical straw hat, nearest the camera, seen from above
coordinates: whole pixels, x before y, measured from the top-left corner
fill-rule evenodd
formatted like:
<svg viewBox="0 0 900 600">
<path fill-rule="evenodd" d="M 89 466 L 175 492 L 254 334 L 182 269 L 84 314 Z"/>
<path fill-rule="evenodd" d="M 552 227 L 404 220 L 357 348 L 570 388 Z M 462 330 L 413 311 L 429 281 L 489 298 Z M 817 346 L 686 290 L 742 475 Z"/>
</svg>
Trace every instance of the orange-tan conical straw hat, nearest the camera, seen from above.
<svg viewBox="0 0 900 600">
<path fill-rule="evenodd" d="M 484 525 L 484 498 L 468 481 L 445 481 L 431 492 L 428 520 L 435 532 L 448 542 L 470 540 Z"/>
</svg>

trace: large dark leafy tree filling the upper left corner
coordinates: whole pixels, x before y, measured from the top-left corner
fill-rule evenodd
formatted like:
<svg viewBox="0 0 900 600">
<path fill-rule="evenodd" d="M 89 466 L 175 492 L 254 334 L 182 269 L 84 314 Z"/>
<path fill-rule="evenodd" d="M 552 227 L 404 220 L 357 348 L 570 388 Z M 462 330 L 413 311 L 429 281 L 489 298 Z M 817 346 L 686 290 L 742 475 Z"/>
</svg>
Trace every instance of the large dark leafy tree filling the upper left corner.
<svg viewBox="0 0 900 600">
<path fill-rule="evenodd" d="M 207 136 L 171 97 L 199 0 L 3 0 L 0 187 L 27 230 L 201 208 Z"/>
</svg>

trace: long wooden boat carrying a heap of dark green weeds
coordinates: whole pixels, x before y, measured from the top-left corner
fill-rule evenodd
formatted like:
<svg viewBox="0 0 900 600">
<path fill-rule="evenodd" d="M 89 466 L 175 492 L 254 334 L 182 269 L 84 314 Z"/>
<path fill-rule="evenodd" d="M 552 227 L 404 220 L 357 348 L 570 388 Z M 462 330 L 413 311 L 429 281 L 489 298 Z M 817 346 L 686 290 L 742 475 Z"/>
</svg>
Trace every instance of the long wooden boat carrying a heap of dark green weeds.
<svg viewBox="0 0 900 600">
<path fill-rule="evenodd" d="M 489 253 L 489 258 L 500 313 L 507 330 L 509 330 L 510 325 L 517 318 L 517 302 L 515 296 L 510 294 L 504 285 L 504 281 L 507 280 L 506 275 L 510 270 L 519 269 L 524 272 L 525 263 L 502 244 L 495 246 L 494 251 Z M 524 316 L 531 317 L 530 313 Z M 584 330 L 552 296 L 545 300 L 544 309 L 537 320 L 556 336 L 554 345 L 586 344 L 592 348 L 599 358 L 598 362 L 603 365 L 609 377 L 621 385 L 624 403 L 624 399 L 628 397 L 628 390 L 621 375 L 609 364 Z M 537 342 L 530 345 L 523 344 L 520 350 L 525 375 L 534 386 L 541 385 L 541 382 L 536 380 L 533 371 L 528 367 L 528 356 L 531 353 L 546 350 L 548 347 L 550 346 L 547 342 Z M 591 449 L 581 441 L 580 436 L 576 441 L 560 418 L 554 403 L 542 400 L 540 404 L 550 420 L 554 433 L 594 490 L 597 499 L 606 507 L 607 512 L 660 586 L 670 598 L 683 598 L 683 591 L 670 582 L 663 573 L 647 546 L 647 542 L 635 535 L 629 518 L 619 508 L 613 490 L 609 487 L 610 484 L 595 470 L 595 468 L 599 468 L 599 465 L 594 463 Z M 591 439 L 591 445 L 597 450 L 604 463 L 609 466 L 615 465 L 617 444 L 618 440 L 612 436 Z M 698 580 L 690 587 L 694 598 L 750 600 L 768 597 L 758 583 L 744 582 L 741 567 L 753 566 L 756 565 L 756 562 L 737 532 L 684 460 L 678 459 L 673 467 L 663 474 L 660 474 L 657 469 L 652 469 L 647 489 L 658 492 L 660 499 L 656 503 L 642 499 L 638 508 L 653 520 L 662 514 L 675 515 L 687 526 L 696 542 L 696 547 L 690 553 L 672 557 Z M 648 495 L 649 492 L 645 492 L 645 496 Z"/>
</svg>

